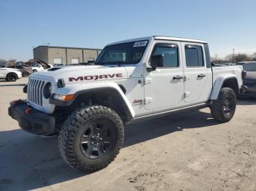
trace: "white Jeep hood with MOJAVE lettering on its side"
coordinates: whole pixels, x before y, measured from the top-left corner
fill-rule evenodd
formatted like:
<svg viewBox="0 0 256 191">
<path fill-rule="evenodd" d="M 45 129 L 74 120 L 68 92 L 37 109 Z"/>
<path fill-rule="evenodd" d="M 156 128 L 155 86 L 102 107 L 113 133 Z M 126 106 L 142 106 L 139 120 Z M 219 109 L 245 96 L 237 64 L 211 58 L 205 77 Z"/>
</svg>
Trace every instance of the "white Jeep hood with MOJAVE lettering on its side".
<svg viewBox="0 0 256 191">
<path fill-rule="evenodd" d="M 50 79 L 52 82 L 63 79 L 67 85 L 79 82 L 126 79 L 128 75 L 125 67 L 118 66 L 62 66 L 36 72 L 31 77 Z"/>
</svg>

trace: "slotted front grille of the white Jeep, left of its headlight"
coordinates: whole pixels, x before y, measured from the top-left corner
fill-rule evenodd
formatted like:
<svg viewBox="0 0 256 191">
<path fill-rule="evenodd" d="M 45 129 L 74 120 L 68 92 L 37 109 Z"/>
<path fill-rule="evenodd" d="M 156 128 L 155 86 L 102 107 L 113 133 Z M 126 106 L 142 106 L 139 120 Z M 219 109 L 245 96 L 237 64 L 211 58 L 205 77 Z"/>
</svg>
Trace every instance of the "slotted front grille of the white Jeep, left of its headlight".
<svg viewBox="0 0 256 191">
<path fill-rule="evenodd" d="M 38 106 L 42 106 L 42 89 L 45 81 L 39 79 L 29 79 L 28 83 L 28 101 Z"/>
</svg>

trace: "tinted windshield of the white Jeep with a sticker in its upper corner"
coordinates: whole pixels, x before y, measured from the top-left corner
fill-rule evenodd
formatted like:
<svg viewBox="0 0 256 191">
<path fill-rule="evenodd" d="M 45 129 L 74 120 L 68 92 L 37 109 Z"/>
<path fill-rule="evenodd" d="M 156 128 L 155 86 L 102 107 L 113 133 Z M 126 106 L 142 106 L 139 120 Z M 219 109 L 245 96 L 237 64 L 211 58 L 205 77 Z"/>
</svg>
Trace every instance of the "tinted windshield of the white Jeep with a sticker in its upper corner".
<svg viewBox="0 0 256 191">
<path fill-rule="evenodd" d="M 96 65 L 139 63 L 146 50 L 148 41 L 125 42 L 105 47 L 100 53 Z"/>
</svg>

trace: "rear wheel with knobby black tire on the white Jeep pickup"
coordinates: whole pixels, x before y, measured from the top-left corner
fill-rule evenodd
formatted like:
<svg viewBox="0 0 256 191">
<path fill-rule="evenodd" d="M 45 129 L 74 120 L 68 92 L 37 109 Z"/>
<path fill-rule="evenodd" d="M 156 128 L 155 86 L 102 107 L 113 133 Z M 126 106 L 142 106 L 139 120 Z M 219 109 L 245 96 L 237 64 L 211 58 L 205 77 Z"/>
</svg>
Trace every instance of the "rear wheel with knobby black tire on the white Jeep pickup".
<svg viewBox="0 0 256 191">
<path fill-rule="evenodd" d="M 223 87 L 219 97 L 210 106 L 211 116 L 219 122 L 228 122 L 236 112 L 236 93 L 230 87 Z M 229 110 L 229 112 L 227 112 Z"/>
</svg>

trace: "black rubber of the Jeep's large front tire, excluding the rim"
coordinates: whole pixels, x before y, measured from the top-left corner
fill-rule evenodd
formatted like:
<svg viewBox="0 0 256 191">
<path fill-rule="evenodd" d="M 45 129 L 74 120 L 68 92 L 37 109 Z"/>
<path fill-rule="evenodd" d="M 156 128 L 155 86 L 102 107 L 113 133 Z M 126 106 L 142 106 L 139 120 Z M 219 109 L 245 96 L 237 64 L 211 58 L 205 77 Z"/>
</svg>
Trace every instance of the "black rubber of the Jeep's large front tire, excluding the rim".
<svg viewBox="0 0 256 191">
<path fill-rule="evenodd" d="M 118 122 L 117 128 L 118 135 L 117 146 L 114 152 L 114 155 L 111 157 L 110 160 L 104 160 L 102 163 L 97 165 L 89 165 L 86 163 L 82 163 L 75 157 L 75 151 L 72 147 L 72 142 L 75 139 L 75 133 L 79 128 L 79 125 L 84 120 L 89 120 L 94 118 L 97 114 L 103 114 L 105 117 L 111 115 L 116 122 Z M 109 109 L 105 106 L 90 106 L 87 108 L 80 107 L 75 112 L 67 117 L 67 120 L 64 122 L 60 134 L 59 134 L 59 151 L 61 156 L 64 158 L 65 162 L 68 163 L 72 168 L 75 168 L 78 171 L 87 171 L 87 172 L 94 172 L 99 171 L 102 168 L 108 166 L 118 155 L 119 150 L 122 147 L 124 141 L 124 126 L 121 118 L 114 112 L 112 109 Z"/>
</svg>

